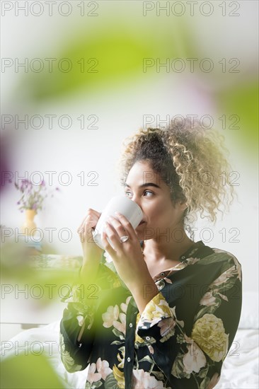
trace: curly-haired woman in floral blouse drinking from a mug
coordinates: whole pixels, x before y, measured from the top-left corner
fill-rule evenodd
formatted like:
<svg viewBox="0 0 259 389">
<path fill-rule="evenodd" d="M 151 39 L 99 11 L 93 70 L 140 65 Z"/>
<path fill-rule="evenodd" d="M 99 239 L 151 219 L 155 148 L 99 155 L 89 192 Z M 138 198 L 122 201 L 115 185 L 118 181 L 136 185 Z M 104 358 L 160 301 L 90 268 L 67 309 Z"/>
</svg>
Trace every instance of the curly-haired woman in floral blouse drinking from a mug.
<svg viewBox="0 0 259 389">
<path fill-rule="evenodd" d="M 69 372 L 89 364 L 86 388 L 219 381 L 241 314 L 241 265 L 185 230 L 197 212 L 215 221 L 221 199 L 233 201 L 221 149 L 217 132 L 188 119 L 140 129 L 121 166 L 142 222 L 134 230 L 121 214 L 111 217 L 104 252 L 91 236 L 100 213 L 88 209 L 79 227 L 84 261 L 60 325 L 63 364 Z"/>
</svg>

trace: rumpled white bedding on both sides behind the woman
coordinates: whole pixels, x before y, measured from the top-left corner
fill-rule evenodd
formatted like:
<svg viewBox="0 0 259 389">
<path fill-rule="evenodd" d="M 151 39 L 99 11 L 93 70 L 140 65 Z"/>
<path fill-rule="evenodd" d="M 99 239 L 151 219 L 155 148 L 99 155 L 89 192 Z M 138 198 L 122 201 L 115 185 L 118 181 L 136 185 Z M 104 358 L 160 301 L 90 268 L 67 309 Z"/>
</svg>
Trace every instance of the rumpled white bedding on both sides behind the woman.
<svg viewBox="0 0 259 389">
<path fill-rule="evenodd" d="M 1 358 L 13 356 L 19 347 L 25 345 L 36 353 L 44 349 L 47 358 L 64 383 L 64 388 L 84 389 L 87 368 L 84 371 L 68 373 L 59 354 L 59 321 L 45 327 L 26 330 L 5 342 L 1 348 Z M 238 328 L 234 343 L 226 356 L 221 379 L 216 389 L 259 388 L 258 379 L 258 330 Z"/>
</svg>

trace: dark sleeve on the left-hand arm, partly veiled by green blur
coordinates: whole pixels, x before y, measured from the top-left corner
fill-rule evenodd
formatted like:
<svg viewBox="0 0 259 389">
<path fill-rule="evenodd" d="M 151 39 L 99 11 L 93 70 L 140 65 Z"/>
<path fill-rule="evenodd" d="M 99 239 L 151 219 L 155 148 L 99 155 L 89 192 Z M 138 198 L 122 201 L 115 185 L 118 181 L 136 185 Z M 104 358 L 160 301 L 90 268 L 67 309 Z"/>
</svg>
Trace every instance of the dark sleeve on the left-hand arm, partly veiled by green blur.
<svg viewBox="0 0 259 389">
<path fill-rule="evenodd" d="M 100 304 L 101 291 L 120 286 L 120 279 L 110 268 L 100 263 L 98 282 L 84 285 L 76 277 L 60 322 L 59 345 L 61 359 L 69 373 L 88 366 L 95 337 L 95 314 Z"/>
</svg>

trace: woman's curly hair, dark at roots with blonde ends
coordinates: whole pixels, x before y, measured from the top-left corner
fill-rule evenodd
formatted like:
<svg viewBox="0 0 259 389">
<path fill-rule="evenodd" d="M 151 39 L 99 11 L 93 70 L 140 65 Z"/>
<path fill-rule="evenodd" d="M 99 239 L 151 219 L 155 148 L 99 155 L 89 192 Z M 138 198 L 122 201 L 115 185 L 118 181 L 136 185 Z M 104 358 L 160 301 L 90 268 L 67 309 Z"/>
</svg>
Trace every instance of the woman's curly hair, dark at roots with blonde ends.
<svg viewBox="0 0 259 389">
<path fill-rule="evenodd" d="M 166 182 L 172 203 L 186 202 L 183 222 L 200 217 L 217 220 L 217 210 L 224 211 L 234 200 L 230 182 L 231 166 L 224 153 L 224 137 L 215 129 L 205 129 L 200 122 L 185 118 L 167 127 L 139 129 L 122 144 L 119 161 L 120 183 L 125 185 L 129 170 L 137 161 L 148 161 L 152 170 Z M 224 212 L 221 211 L 223 214 Z"/>
</svg>

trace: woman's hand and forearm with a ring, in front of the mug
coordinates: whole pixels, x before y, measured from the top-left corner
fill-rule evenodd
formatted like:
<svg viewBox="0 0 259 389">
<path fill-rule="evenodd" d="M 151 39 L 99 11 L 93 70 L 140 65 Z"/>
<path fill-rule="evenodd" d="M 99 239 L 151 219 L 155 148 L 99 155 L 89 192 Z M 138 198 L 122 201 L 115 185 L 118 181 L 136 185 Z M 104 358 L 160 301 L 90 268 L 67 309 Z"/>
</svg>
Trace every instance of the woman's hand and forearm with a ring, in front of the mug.
<svg viewBox="0 0 259 389">
<path fill-rule="evenodd" d="M 149 274 L 149 269 L 142 254 L 142 248 L 132 224 L 122 214 L 116 212 L 116 215 L 117 219 L 110 216 L 104 228 L 105 232 L 103 233 L 102 240 L 105 251 L 113 258 L 117 274 L 119 274 L 129 290 L 139 289 L 140 291 L 141 289 L 143 292 L 144 284 L 151 283 L 154 285 L 154 281 Z M 121 243 L 120 238 L 125 235 L 129 236 L 129 239 Z M 110 239 L 114 249 L 108 243 L 107 238 Z"/>
</svg>

